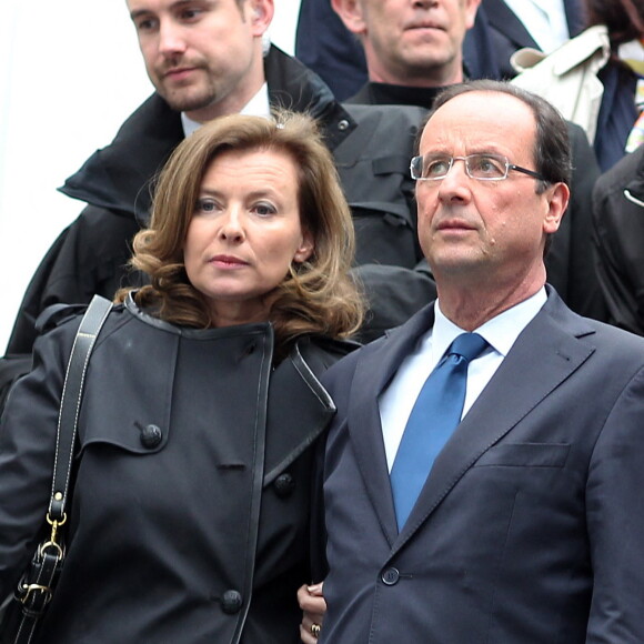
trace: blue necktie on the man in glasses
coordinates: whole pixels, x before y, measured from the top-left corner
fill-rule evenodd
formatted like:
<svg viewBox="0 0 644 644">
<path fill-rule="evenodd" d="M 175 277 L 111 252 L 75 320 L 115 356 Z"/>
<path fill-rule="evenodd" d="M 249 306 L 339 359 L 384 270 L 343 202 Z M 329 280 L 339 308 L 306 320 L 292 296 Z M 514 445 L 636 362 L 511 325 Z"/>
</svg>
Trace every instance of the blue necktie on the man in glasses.
<svg viewBox="0 0 644 644">
<path fill-rule="evenodd" d="M 399 531 L 425 484 L 434 459 L 461 422 L 467 366 L 486 346 L 487 342 L 477 333 L 462 333 L 423 384 L 391 470 Z"/>
</svg>

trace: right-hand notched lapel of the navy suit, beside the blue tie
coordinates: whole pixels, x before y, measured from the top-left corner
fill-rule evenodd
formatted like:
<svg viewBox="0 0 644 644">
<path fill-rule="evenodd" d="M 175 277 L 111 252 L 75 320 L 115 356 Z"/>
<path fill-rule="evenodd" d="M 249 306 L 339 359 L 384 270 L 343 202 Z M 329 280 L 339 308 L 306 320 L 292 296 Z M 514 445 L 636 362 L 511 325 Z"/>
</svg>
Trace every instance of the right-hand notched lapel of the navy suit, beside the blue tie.
<svg viewBox="0 0 644 644">
<path fill-rule="evenodd" d="M 434 512 L 459 480 L 492 445 L 571 376 L 594 352 L 583 318 L 550 292 L 544 309 L 520 334 L 510 353 L 436 457 L 395 550 Z M 526 371 L 526 365 L 530 370 Z M 526 379 L 530 386 L 525 386 Z"/>
</svg>

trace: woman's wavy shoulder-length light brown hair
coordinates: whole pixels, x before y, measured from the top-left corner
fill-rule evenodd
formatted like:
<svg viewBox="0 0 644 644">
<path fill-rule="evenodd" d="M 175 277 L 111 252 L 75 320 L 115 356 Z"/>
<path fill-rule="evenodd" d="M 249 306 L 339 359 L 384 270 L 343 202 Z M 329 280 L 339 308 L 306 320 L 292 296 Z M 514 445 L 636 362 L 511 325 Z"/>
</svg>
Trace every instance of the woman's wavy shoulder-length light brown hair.
<svg viewBox="0 0 644 644">
<path fill-rule="evenodd" d="M 302 334 L 344 338 L 354 333 L 364 303 L 348 271 L 353 261 L 351 212 L 340 187 L 333 159 L 309 115 L 279 111 L 272 119 L 234 114 L 215 119 L 184 139 L 161 171 L 152 219 L 133 241 L 131 264 L 150 283 L 134 293 L 140 306 L 174 324 L 213 326 L 205 296 L 189 281 L 183 244 L 210 163 L 225 151 L 275 150 L 289 154 L 299 172 L 301 224 L 314 240 L 313 254 L 293 263 L 271 293 L 278 343 Z M 128 293 L 117 294 L 122 301 Z"/>
</svg>

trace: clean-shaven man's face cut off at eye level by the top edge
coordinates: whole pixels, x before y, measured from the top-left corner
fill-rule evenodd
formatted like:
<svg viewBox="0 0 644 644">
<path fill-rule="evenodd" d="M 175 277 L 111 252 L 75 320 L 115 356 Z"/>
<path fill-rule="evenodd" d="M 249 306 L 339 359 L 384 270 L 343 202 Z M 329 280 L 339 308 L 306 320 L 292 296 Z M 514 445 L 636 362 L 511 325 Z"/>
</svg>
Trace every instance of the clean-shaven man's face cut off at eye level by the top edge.
<svg viewBox="0 0 644 644">
<path fill-rule="evenodd" d="M 354 9 L 361 14 L 356 26 L 370 79 L 419 87 L 459 82 L 463 39 L 474 23 L 479 3 L 480 0 L 356 0 Z"/>
</svg>

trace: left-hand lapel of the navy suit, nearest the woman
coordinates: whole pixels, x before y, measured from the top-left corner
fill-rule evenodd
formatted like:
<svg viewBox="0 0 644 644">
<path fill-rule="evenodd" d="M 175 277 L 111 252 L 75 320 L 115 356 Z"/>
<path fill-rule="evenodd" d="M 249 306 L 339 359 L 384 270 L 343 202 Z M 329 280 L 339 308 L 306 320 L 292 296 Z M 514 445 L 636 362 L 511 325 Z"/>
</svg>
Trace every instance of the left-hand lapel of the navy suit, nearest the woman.
<svg viewBox="0 0 644 644">
<path fill-rule="evenodd" d="M 420 335 L 434 322 L 434 306 L 430 304 L 405 324 L 388 333 L 361 351 L 349 406 L 349 433 L 370 501 L 390 545 L 398 537 L 398 527 L 389 467 L 382 439 L 378 396 L 385 389 L 401 362 Z M 373 383 L 373 384 L 370 384 Z"/>
</svg>

